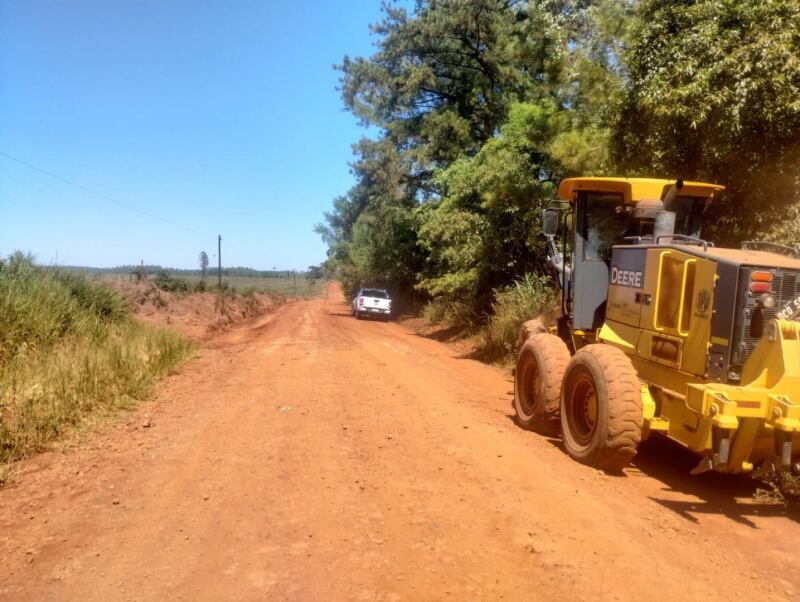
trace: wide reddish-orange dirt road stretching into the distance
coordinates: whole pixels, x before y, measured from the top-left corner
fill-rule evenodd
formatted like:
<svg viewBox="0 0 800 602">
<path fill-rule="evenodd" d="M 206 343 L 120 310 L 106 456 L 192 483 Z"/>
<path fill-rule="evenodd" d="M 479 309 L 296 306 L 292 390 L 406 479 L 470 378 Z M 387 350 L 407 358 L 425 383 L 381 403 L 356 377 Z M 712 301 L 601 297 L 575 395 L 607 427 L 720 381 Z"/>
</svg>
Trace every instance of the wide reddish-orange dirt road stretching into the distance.
<svg viewBox="0 0 800 602">
<path fill-rule="evenodd" d="M 797 598 L 798 517 L 749 480 L 657 443 L 598 473 L 511 388 L 330 285 L 0 491 L 0 598 Z"/>
</svg>

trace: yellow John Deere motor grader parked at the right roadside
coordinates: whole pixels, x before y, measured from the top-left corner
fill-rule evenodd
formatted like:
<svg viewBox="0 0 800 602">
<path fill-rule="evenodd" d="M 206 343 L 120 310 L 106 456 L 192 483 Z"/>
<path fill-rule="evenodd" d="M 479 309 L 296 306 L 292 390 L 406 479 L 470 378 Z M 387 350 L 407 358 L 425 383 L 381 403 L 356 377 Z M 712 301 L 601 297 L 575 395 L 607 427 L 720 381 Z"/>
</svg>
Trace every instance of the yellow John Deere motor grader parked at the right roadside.
<svg viewBox="0 0 800 602">
<path fill-rule="evenodd" d="M 526 323 L 518 422 L 619 470 L 651 434 L 693 472 L 800 468 L 800 257 L 771 242 L 718 248 L 703 216 L 724 188 L 570 178 L 543 212 L 561 317 Z"/>
</svg>

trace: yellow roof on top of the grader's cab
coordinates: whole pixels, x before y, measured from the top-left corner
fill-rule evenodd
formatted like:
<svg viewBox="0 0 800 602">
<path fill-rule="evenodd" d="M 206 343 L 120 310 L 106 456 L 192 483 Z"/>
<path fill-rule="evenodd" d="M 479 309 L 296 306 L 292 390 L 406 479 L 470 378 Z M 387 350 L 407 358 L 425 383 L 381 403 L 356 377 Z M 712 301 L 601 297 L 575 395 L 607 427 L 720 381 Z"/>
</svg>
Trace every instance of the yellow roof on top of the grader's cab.
<svg viewBox="0 0 800 602">
<path fill-rule="evenodd" d="M 558 196 L 571 201 L 576 192 L 588 190 L 622 194 L 625 203 L 638 203 L 645 199 L 662 199 L 674 183 L 675 180 L 654 178 L 568 178 L 558 187 Z M 683 183 L 680 195 L 705 198 L 708 202 L 723 190 L 725 187 L 719 184 L 687 181 Z"/>
</svg>

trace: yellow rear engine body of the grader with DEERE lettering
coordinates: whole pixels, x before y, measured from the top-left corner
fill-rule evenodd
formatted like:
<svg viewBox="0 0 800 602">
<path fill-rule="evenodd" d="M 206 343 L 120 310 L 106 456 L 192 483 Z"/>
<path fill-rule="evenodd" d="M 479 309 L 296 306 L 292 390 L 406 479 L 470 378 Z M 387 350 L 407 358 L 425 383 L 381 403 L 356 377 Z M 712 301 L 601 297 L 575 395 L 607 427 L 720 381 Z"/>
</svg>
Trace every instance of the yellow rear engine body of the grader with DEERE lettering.
<svg viewBox="0 0 800 602">
<path fill-rule="evenodd" d="M 615 246 L 598 339 L 639 377 L 646 432 L 698 470 L 800 463 L 800 261 L 702 245 Z"/>
</svg>

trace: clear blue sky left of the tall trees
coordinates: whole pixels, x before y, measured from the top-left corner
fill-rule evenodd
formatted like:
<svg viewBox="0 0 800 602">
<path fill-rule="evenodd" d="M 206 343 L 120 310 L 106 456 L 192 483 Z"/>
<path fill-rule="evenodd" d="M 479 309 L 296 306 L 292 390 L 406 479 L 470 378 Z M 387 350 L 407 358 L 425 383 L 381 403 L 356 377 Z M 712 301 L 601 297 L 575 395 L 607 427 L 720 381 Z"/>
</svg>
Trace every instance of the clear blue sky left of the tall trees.
<svg viewBox="0 0 800 602">
<path fill-rule="evenodd" d="M 298 268 L 365 131 L 332 65 L 378 0 L 0 0 L 0 255 Z M 144 213 L 142 213 L 144 212 Z M 149 215 L 145 215 L 149 214 Z M 173 225 L 178 224 L 180 227 Z"/>
</svg>

